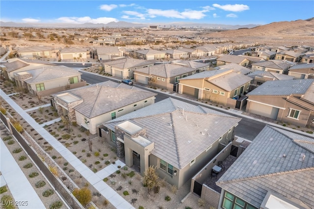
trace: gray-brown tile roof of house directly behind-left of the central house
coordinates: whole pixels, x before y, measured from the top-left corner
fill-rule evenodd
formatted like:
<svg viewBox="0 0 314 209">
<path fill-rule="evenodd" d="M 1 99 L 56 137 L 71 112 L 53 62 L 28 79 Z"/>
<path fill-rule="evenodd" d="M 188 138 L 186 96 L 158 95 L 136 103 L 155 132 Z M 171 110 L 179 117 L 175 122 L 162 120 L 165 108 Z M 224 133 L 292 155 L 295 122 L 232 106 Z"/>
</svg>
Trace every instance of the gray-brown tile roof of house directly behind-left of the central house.
<svg viewBox="0 0 314 209">
<path fill-rule="evenodd" d="M 156 93 L 127 84 L 105 81 L 59 92 L 52 96 L 57 96 L 64 92 L 83 99 L 83 102 L 76 105 L 74 109 L 88 118 L 93 118 L 157 95 Z"/>
</svg>

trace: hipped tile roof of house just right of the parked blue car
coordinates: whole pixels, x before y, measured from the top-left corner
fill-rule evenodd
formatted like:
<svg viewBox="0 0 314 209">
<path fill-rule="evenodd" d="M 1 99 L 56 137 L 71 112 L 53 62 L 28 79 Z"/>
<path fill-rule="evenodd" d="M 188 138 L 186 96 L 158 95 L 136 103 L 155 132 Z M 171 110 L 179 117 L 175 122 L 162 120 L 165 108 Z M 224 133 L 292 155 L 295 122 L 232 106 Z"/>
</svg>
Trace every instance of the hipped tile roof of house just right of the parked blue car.
<svg viewBox="0 0 314 209">
<path fill-rule="evenodd" d="M 154 75 L 159 76 L 163 78 L 172 78 L 178 75 L 182 75 L 185 73 L 193 72 L 195 69 L 184 67 L 177 64 L 160 64 L 160 65 L 154 65 L 147 68 L 141 68 L 134 70 L 136 72 L 145 73 L 148 75 Z"/>
</svg>

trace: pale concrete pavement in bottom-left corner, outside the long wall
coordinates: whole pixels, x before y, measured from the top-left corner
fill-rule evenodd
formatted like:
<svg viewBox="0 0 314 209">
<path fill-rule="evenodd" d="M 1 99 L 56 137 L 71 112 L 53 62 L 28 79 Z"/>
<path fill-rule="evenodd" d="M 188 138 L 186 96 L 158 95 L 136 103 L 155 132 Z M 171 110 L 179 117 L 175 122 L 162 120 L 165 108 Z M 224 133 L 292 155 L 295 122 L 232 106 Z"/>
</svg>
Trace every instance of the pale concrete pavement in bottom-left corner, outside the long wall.
<svg viewBox="0 0 314 209">
<path fill-rule="evenodd" d="M 20 209 L 44 209 L 45 205 L 35 192 L 33 186 L 28 182 L 2 139 L 0 140 L 0 153 L 1 156 L 5 156 L 1 157 L 0 161 L 0 171 L 2 174 L 0 185 L 7 184 L 16 203 L 23 204 L 24 202 L 23 206 L 17 205 L 17 207 Z"/>
</svg>

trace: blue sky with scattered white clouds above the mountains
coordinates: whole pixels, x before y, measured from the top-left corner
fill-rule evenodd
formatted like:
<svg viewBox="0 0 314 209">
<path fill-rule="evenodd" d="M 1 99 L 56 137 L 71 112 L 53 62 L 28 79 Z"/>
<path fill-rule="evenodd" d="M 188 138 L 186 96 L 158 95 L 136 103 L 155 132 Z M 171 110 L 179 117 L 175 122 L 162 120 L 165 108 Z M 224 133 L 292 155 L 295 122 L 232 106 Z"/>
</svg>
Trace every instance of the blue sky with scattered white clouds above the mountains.
<svg viewBox="0 0 314 209">
<path fill-rule="evenodd" d="M 0 21 L 16 23 L 265 25 L 314 17 L 314 0 L 1 0 Z"/>
</svg>

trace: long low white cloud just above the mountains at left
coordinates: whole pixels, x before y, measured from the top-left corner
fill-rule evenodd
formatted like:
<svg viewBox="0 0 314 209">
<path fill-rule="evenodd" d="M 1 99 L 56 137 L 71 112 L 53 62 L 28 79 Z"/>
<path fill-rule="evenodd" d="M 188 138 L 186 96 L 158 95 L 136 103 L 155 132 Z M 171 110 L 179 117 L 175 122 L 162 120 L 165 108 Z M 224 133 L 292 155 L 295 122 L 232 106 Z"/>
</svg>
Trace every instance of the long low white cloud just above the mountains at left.
<svg viewBox="0 0 314 209">
<path fill-rule="evenodd" d="M 118 22 L 115 18 L 107 18 L 107 17 L 100 17 L 100 18 L 90 18 L 90 17 L 60 17 L 57 19 L 61 23 L 73 23 L 73 24 L 83 24 L 83 23 L 100 23 L 100 24 L 107 24 L 110 22 Z"/>
</svg>

